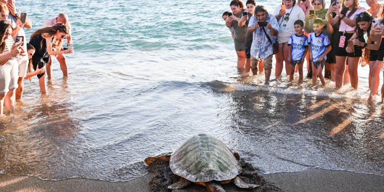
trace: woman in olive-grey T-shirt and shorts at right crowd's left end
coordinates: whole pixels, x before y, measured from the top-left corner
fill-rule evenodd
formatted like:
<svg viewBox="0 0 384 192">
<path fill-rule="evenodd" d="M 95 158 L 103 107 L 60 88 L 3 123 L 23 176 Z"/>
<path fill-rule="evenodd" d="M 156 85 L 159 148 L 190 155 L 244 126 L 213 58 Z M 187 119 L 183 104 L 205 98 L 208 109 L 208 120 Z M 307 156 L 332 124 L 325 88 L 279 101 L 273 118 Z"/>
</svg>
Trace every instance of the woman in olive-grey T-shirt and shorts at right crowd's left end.
<svg viewBox="0 0 384 192">
<path fill-rule="evenodd" d="M 243 15 L 244 12 L 244 3 L 242 0 L 233 0 L 229 4 L 232 15 L 228 16 L 225 20 L 225 25 L 228 28 L 232 28 L 235 30 L 235 51 L 237 54 L 237 68 L 244 68 L 245 65 L 245 30 L 247 30 L 246 26 L 238 26 L 238 22 Z"/>
</svg>

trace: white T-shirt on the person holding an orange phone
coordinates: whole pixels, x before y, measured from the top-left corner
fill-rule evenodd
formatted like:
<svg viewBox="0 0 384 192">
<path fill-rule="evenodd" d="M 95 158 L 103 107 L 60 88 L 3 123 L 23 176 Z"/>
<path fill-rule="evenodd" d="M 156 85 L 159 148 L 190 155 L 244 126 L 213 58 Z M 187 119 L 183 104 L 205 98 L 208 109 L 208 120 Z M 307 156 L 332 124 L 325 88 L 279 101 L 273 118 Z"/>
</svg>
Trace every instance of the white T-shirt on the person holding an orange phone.
<svg viewBox="0 0 384 192">
<path fill-rule="evenodd" d="M 277 6 L 275 9 L 275 12 L 273 12 L 273 15 L 278 15 L 280 12 L 281 6 Z M 296 34 L 295 27 L 293 26 L 293 23 L 295 23 L 296 20 L 302 20 L 303 23 L 305 23 L 305 14 L 303 10 L 295 5 L 290 9 L 286 9 L 285 15 L 278 20 L 278 24 L 280 26 L 279 29 L 279 35 L 277 36 L 277 42 L 279 43 L 286 43 L 288 42 L 291 35 Z M 289 16 L 288 21 L 286 20 L 286 17 Z"/>
</svg>

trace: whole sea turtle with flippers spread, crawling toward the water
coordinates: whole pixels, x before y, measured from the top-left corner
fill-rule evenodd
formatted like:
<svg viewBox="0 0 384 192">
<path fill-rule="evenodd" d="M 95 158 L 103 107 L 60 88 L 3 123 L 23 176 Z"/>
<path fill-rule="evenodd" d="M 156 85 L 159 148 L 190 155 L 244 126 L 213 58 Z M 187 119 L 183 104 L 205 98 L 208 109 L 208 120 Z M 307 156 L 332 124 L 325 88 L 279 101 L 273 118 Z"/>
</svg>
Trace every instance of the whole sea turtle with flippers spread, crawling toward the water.
<svg viewBox="0 0 384 192">
<path fill-rule="evenodd" d="M 145 159 L 147 165 L 154 161 L 169 161 L 172 172 L 181 177 L 168 189 L 181 189 L 191 182 L 206 186 L 209 192 L 225 192 L 220 184 L 229 182 L 247 189 L 260 186 L 243 182 L 238 177 L 242 171 L 239 154 L 207 134 L 189 138 L 171 155 Z"/>
</svg>

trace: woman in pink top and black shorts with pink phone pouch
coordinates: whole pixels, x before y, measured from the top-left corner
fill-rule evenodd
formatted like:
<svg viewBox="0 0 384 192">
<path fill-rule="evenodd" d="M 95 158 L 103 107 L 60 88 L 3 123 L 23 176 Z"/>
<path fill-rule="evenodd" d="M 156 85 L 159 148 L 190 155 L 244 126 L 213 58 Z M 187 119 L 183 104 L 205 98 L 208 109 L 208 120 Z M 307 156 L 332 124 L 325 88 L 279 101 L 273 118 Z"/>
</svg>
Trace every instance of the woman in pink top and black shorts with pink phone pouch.
<svg viewBox="0 0 384 192">
<path fill-rule="evenodd" d="M 358 76 L 358 64 L 362 55 L 361 49 L 355 49 L 354 53 L 347 53 L 346 47 L 348 40 L 351 39 L 356 28 L 355 16 L 365 11 L 364 7 L 360 7 L 359 0 L 344 0 L 344 6 L 341 12 L 334 9 L 336 17 L 329 19 L 328 22 L 331 25 L 336 25 L 340 21 L 339 33 L 336 36 L 336 46 L 333 50 L 333 54 L 336 55 L 336 88 L 343 86 L 344 72 L 346 62 L 348 60 L 348 71 L 351 77 L 351 86 L 354 89 L 358 88 L 359 76 Z"/>
</svg>

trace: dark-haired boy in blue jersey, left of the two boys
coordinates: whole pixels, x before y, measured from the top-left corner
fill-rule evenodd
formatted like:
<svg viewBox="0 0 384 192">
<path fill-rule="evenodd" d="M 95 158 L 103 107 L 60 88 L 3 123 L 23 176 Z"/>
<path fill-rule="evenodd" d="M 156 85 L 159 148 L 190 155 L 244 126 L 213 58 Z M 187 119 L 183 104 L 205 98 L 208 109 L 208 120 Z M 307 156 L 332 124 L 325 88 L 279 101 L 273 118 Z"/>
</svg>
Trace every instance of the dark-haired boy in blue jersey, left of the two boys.
<svg viewBox="0 0 384 192">
<path fill-rule="evenodd" d="M 295 74 L 297 64 L 299 66 L 299 82 L 301 82 L 303 81 L 303 63 L 305 55 L 308 52 L 308 37 L 303 34 L 303 21 L 297 20 L 293 23 L 293 26 L 295 27 L 296 34 L 291 35 L 288 40 L 288 46 L 290 46 L 288 51 L 288 62 L 293 65 L 289 75 L 289 80 L 293 80 L 293 74 Z"/>
</svg>

